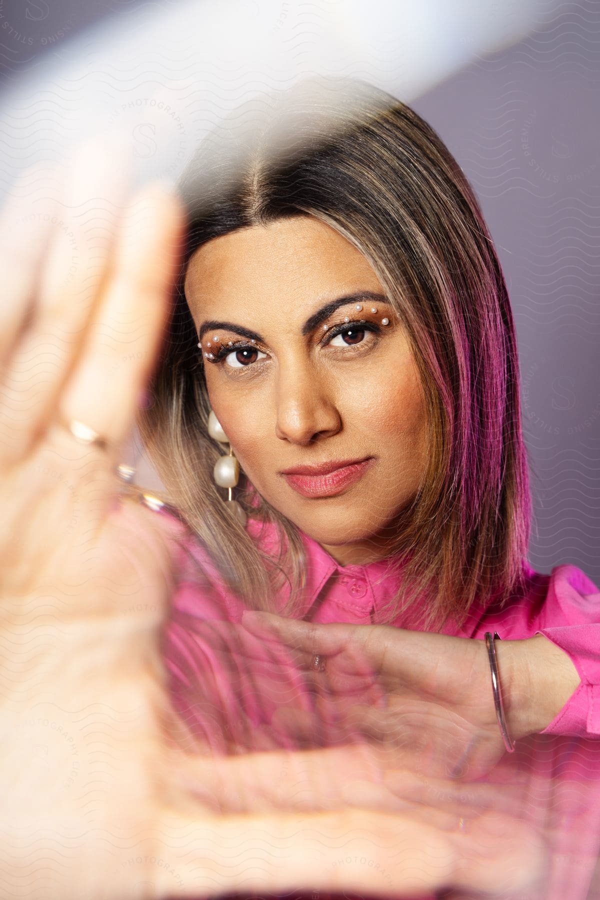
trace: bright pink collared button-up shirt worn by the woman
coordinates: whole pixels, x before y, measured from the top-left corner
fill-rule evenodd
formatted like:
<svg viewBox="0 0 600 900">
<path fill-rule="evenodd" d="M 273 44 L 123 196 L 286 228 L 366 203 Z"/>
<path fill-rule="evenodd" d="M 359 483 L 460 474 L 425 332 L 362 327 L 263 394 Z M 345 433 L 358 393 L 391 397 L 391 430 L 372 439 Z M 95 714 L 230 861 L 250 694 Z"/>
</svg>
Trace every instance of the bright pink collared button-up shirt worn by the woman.
<svg viewBox="0 0 600 900">
<path fill-rule="evenodd" d="M 166 509 L 162 514 L 167 514 Z M 248 520 L 248 533 L 264 548 L 272 549 L 274 528 L 261 528 L 256 520 Z M 341 566 L 309 536 L 303 535 L 302 540 L 307 584 L 300 616 L 315 622 L 376 622 L 401 575 L 390 574 L 385 560 Z M 245 670 L 251 666 L 234 665 L 232 674 L 232 659 L 239 648 L 232 649 L 228 626 L 239 622 L 244 607 L 225 589 L 199 542 L 191 537 L 186 545 L 201 563 L 204 576 L 199 583 L 185 554 L 177 552 L 179 583 L 164 649 L 175 707 L 215 752 L 225 749 L 223 729 L 242 745 L 256 749 L 248 725 L 243 723 L 250 721 L 250 727 L 256 729 L 268 724 L 277 697 L 265 698 L 245 680 Z M 569 653 L 574 662 L 581 680 L 578 689 L 541 734 L 517 742 L 515 753 L 505 754 L 488 780 L 495 780 L 496 771 L 501 778 L 506 765 L 528 773 L 521 815 L 543 825 L 551 842 L 544 900 L 584 900 L 592 896 L 588 890 L 600 852 L 600 591 L 574 565 L 555 566 L 549 575 L 527 565 L 526 574 L 524 597 L 502 609 L 493 604 L 473 608 L 461 628 L 451 622 L 444 626 L 443 634 L 477 640 L 495 630 L 502 639 L 513 640 L 541 634 Z M 283 590 L 277 602 L 285 599 Z M 402 617 L 393 625 L 403 627 Z M 256 651 L 256 647 L 251 649 L 251 653 Z M 291 668 L 287 675 L 293 681 Z M 289 687 L 297 697 L 298 685 Z M 491 690 L 491 685 L 487 687 Z M 282 689 L 280 701 L 285 696 Z M 240 715 L 241 707 L 244 715 Z M 285 735 L 281 735 L 281 745 L 290 745 Z"/>
</svg>

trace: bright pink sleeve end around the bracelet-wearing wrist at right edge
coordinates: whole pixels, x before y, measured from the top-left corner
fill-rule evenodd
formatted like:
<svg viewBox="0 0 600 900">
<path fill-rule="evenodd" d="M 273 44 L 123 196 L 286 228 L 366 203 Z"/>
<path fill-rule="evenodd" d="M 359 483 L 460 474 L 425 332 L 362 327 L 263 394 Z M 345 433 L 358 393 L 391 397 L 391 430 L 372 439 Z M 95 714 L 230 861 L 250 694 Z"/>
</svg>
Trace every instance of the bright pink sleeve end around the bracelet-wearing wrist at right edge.
<svg viewBox="0 0 600 900">
<path fill-rule="evenodd" d="M 600 590 L 577 566 L 555 566 L 541 618 L 535 634 L 569 653 L 581 680 L 541 734 L 600 737 Z"/>
</svg>

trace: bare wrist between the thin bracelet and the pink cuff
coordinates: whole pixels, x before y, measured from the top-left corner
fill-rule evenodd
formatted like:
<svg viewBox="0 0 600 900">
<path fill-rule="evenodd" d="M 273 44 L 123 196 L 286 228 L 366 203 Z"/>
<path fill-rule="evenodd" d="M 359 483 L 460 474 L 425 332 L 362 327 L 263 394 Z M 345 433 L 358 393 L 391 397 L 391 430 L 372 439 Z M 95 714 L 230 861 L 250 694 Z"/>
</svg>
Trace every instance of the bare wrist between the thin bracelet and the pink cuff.
<svg viewBox="0 0 600 900">
<path fill-rule="evenodd" d="M 539 734 L 578 689 L 577 669 L 544 635 L 496 641 L 495 647 L 508 734 L 514 741 Z"/>
</svg>

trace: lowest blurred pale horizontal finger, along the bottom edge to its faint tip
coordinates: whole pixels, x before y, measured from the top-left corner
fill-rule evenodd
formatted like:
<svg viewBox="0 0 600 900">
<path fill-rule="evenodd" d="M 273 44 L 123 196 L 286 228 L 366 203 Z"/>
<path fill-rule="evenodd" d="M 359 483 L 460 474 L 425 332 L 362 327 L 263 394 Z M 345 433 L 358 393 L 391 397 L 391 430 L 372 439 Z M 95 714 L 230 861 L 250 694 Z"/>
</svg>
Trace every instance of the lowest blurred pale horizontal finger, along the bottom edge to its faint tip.
<svg viewBox="0 0 600 900">
<path fill-rule="evenodd" d="M 153 852 L 166 865 L 155 885 L 159 896 L 309 889 L 385 895 L 457 882 L 517 889 L 541 876 L 545 857 L 533 829 L 520 827 L 515 836 L 513 823 L 498 817 L 482 825 L 483 837 L 473 840 L 411 815 L 365 810 L 202 815 L 200 825 L 188 810 L 165 815 L 157 829 Z"/>
</svg>

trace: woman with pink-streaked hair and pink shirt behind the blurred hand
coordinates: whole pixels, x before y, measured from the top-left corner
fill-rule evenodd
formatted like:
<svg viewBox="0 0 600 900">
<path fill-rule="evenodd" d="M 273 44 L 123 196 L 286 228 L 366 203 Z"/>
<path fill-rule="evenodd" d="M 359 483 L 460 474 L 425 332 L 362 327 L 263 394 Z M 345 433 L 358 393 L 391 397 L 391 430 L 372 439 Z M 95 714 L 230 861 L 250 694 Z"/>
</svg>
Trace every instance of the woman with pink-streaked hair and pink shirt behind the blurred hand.
<svg viewBox="0 0 600 900">
<path fill-rule="evenodd" d="M 140 419 L 193 532 L 166 642 L 182 717 L 221 750 L 368 735 L 431 777 L 478 779 L 519 741 L 512 770 L 542 746 L 547 779 L 577 780 L 572 740 L 523 739 L 585 738 L 596 760 L 600 598 L 574 566 L 526 563 L 515 326 L 460 166 L 362 82 L 303 84 L 261 129 L 245 121 L 184 175 L 184 260 Z M 495 630 L 507 735 L 485 642 L 466 640 Z M 598 840 L 576 886 L 573 838 L 555 834 L 548 892 L 585 896 Z"/>
</svg>

